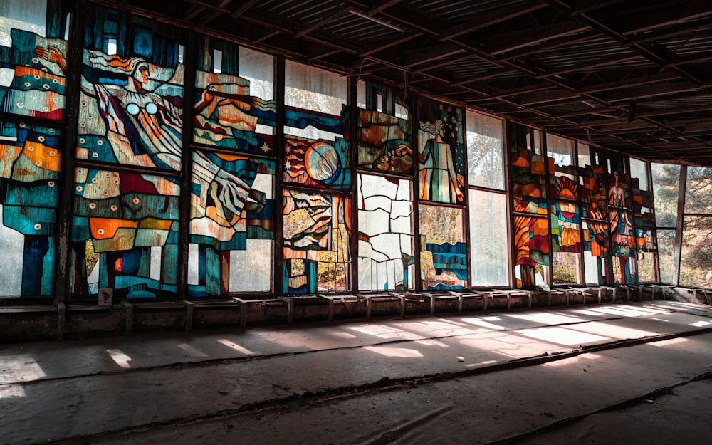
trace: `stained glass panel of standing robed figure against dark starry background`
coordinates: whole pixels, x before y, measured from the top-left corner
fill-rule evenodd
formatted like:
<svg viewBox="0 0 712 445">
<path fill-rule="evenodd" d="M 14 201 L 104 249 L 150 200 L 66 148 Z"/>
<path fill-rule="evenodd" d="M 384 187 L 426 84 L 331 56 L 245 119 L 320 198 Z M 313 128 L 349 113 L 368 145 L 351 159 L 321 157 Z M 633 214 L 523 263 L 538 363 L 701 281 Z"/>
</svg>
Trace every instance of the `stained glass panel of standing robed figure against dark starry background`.
<svg viewBox="0 0 712 445">
<path fill-rule="evenodd" d="M 465 204 L 463 110 L 418 100 L 419 199 Z"/>
</svg>

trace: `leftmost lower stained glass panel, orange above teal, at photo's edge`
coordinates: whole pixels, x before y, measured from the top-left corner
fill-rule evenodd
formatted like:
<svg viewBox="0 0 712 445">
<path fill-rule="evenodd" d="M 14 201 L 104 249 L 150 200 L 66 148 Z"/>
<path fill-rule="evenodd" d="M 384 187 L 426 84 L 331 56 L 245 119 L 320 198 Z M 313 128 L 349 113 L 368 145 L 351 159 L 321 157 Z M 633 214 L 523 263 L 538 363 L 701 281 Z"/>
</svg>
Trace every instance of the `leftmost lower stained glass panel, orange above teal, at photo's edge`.
<svg viewBox="0 0 712 445">
<path fill-rule="evenodd" d="M 0 296 L 52 295 L 60 136 L 0 120 Z"/>
</svg>

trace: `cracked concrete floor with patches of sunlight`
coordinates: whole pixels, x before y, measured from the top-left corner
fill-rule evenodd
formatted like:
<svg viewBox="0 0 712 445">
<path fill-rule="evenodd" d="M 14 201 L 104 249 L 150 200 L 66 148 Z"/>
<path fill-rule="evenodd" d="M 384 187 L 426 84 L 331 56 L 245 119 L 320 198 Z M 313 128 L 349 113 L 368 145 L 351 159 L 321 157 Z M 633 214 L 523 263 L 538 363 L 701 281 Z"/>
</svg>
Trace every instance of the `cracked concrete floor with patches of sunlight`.
<svg viewBox="0 0 712 445">
<path fill-rule="evenodd" d="M 0 444 L 709 444 L 712 309 L 2 345 Z"/>
</svg>

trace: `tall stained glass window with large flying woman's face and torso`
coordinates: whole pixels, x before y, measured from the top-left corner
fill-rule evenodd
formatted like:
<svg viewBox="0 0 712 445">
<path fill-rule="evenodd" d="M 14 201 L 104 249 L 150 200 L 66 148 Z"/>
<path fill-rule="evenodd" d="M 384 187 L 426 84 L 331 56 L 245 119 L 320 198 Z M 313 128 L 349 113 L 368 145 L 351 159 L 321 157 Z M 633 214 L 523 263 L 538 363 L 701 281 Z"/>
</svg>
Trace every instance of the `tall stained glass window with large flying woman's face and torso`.
<svg viewBox="0 0 712 445">
<path fill-rule="evenodd" d="M 172 297 L 179 263 L 182 31 L 98 5 L 88 6 L 86 22 L 70 295 L 113 288 L 114 298 Z M 83 160 L 94 164 L 82 167 Z M 218 173 L 210 167 L 202 177 Z"/>
</svg>

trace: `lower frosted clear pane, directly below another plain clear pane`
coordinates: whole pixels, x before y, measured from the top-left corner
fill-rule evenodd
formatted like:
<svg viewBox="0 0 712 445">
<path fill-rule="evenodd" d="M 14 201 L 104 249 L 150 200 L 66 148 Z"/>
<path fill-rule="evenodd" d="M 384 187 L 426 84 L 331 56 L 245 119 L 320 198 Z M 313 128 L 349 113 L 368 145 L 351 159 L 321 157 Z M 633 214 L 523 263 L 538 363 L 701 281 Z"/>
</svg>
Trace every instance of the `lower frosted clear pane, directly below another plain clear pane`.
<svg viewBox="0 0 712 445">
<path fill-rule="evenodd" d="M 470 190 L 472 286 L 509 286 L 507 196 Z"/>
</svg>

